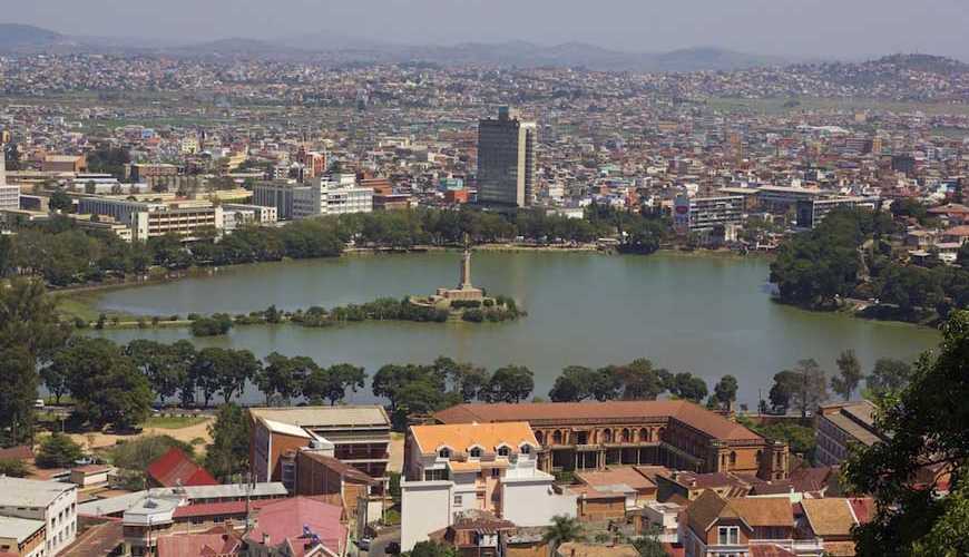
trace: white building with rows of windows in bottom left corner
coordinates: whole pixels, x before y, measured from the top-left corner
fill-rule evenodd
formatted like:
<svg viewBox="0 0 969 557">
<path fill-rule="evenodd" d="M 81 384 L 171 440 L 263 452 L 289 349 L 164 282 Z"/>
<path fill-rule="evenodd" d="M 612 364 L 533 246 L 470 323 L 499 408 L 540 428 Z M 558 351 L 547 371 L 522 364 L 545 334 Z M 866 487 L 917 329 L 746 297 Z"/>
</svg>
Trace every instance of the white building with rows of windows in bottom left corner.
<svg viewBox="0 0 969 557">
<path fill-rule="evenodd" d="M 0 477 L 0 516 L 42 522 L 45 528 L 42 548 L 29 555 L 53 557 L 77 537 L 77 486 L 60 481 L 26 480 L 2 476 Z M 4 526 L 10 530 L 4 529 Z M 13 524 L 9 520 L 6 525 L 0 522 L 0 539 L 22 536 L 30 528 L 26 522 Z"/>
</svg>

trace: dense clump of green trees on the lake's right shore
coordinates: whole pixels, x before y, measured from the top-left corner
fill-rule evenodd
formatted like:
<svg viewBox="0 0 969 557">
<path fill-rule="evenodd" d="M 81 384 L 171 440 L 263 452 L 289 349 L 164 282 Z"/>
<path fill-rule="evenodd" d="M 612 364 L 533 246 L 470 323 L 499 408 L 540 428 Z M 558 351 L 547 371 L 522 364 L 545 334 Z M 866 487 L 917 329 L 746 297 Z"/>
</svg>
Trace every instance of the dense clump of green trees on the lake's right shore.
<svg viewBox="0 0 969 557">
<path fill-rule="evenodd" d="M 771 282 L 782 302 L 809 309 L 834 309 L 845 297 L 878 300 L 864 313 L 875 319 L 941 322 L 969 306 L 969 245 L 956 266 L 936 257 L 917 265 L 889 242 L 901 232 L 888 212 L 833 211 L 781 244 Z"/>
</svg>

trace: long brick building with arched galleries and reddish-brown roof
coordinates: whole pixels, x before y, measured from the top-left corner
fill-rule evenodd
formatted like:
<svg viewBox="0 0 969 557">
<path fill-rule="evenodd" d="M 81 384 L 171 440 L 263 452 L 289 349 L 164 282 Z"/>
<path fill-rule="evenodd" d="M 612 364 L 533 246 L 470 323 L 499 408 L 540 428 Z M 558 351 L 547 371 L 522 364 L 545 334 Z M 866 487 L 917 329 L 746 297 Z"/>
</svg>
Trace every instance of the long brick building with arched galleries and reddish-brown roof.
<svg viewBox="0 0 969 557">
<path fill-rule="evenodd" d="M 458 404 L 434 419 L 528 422 L 541 446 L 539 468 L 549 472 L 659 465 L 764 480 L 787 477 L 786 443 L 685 400 Z"/>
</svg>

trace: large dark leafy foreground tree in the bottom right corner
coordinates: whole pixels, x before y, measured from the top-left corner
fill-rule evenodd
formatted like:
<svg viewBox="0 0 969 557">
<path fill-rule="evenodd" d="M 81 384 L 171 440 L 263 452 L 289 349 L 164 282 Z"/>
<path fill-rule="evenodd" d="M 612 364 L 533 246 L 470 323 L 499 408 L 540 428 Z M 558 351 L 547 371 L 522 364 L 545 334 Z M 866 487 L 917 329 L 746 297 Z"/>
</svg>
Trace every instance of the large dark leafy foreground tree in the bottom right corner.
<svg viewBox="0 0 969 557">
<path fill-rule="evenodd" d="M 854 451 L 849 486 L 875 499 L 854 529 L 859 556 L 969 555 L 969 312 L 953 312 L 937 354 L 880 399 L 874 424 L 887 438 Z M 949 494 L 940 496 L 948 480 Z"/>
</svg>

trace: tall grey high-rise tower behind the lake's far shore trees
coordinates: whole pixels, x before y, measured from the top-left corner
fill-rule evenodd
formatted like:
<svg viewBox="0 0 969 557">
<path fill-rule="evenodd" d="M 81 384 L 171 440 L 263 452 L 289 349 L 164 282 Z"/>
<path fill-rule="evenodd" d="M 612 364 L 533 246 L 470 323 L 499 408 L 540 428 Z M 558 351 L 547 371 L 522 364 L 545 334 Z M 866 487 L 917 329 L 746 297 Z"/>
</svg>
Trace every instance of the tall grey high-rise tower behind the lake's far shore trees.
<svg viewBox="0 0 969 557">
<path fill-rule="evenodd" d="M 538 127 L 509 107 L 478 123 L 478 202 L 525 207 L 535 198 Z"/>
</svg>

